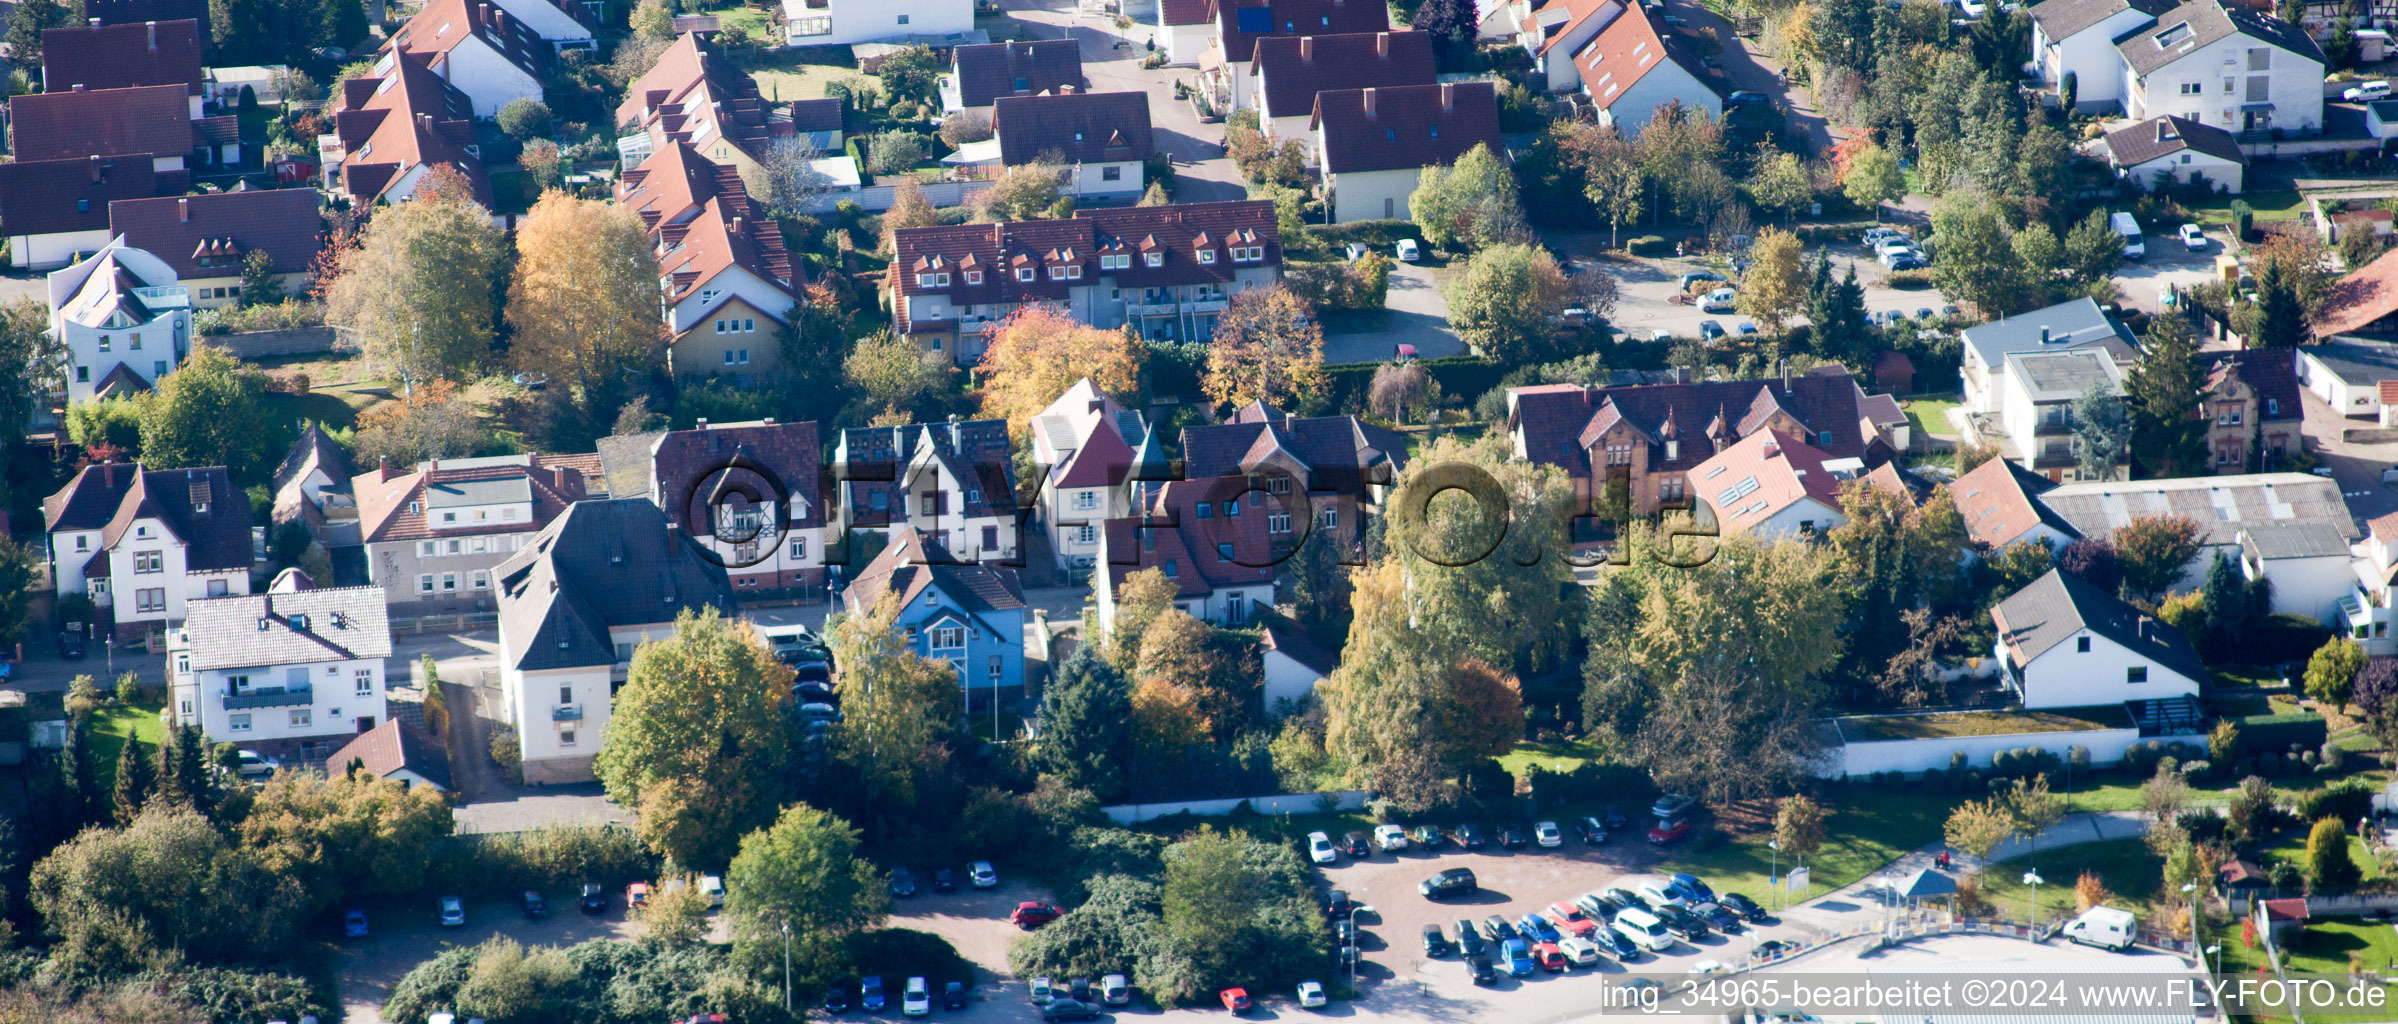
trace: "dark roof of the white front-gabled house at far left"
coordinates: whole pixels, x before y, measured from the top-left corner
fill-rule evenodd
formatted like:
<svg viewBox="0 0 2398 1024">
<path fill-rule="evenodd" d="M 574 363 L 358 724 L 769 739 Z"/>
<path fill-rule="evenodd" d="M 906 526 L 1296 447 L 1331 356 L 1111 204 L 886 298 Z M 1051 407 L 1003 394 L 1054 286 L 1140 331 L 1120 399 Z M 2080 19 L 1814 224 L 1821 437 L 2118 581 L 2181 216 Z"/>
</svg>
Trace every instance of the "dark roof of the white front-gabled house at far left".
<svg viewBox="0 0 2398 1024">
<path fill-rule="evenodd" d="M 115 547 L 139 518 L 158 520 L 189 549 L 189 571 L 249 568 L 249 494 L 233 487 L 223 465 L 192 470 L 144 470 L 103 463 L 82 468 L 67 487 L 41 501 L 43 528 L 101 530 L 101 549 Z"/>
</svg>

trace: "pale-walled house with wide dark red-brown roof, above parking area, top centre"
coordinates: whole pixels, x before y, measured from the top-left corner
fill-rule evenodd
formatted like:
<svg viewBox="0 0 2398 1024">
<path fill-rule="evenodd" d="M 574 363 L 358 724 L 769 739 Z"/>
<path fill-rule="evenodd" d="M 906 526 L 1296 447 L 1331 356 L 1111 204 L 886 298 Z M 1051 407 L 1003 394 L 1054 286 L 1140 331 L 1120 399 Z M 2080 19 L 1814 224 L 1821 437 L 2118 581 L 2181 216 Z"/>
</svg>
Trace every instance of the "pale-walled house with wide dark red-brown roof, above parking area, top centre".
<svg viewBox="0 0 2398 1024">
<path fill-rule="evenodd" d="M 1321 91 L 1309 129 L 1336 223 L 1408 221 L 1424 168 L 1506 151 L 1492 82 Z"/>
</svg>

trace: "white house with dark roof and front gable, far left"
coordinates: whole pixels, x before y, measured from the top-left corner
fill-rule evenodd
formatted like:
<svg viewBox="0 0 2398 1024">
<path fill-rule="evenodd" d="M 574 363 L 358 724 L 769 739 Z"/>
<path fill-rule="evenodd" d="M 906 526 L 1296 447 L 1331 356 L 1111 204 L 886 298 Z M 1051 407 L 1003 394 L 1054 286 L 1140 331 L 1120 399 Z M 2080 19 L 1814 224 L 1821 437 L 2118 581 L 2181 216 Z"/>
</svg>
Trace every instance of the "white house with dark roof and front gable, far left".
<svg viewBox="0 0 2398 1024">
<path fill-rule="evenodd" d="M 41 518 L 58 592 L 89 595 L 103 621 L 165 626 L 189 602 L 249 592 L 249 494 L 223 465 L 86 465 Z"/>
</svg>

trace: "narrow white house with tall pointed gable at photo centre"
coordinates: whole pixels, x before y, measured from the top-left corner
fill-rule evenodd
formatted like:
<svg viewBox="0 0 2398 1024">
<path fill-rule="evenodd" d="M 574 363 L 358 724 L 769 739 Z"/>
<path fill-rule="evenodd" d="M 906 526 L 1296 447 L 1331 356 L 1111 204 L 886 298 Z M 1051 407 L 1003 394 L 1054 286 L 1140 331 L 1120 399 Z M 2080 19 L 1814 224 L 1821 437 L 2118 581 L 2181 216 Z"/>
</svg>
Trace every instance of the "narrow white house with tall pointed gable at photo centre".
<svg viewBox="0 0 2398 1024">
<path fill-rule="evenodd" d="M 1149 420 L 1089 377 L 1031 422 L 1034 465 L 1046 472 L 1034 518 L 1062 571 L 1098 564 L 1098 530 L 1137 511 L 1137 482 L 1165 477 L 1165 453 Z"/>
</svg>

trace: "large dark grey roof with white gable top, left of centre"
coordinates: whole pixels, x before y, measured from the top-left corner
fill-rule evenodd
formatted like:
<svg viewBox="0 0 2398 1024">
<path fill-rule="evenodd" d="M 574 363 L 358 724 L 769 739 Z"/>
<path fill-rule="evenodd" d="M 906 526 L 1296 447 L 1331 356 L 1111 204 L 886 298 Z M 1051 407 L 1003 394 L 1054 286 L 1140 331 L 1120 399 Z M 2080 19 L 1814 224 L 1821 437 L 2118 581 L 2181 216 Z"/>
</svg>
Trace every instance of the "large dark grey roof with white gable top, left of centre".
<svg viewBox="0 0 2398 1024">
<path fill-rule="evenodd" d="M 576 501 L 499 564 L 499 647 L 516 669 L 614 664 L 609 628 L 734 614 L 724 566 L 693 552 L 650 499 Z"/>
</svg>

